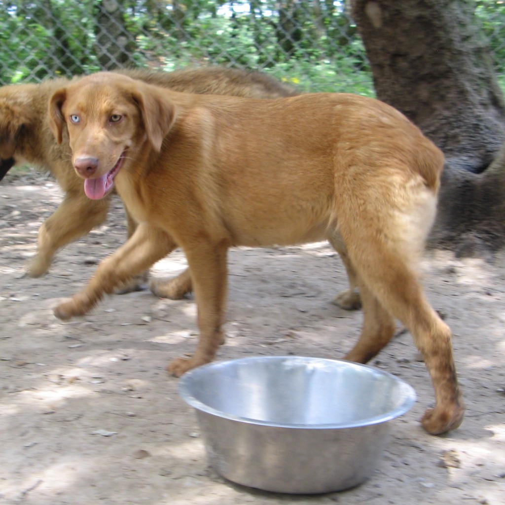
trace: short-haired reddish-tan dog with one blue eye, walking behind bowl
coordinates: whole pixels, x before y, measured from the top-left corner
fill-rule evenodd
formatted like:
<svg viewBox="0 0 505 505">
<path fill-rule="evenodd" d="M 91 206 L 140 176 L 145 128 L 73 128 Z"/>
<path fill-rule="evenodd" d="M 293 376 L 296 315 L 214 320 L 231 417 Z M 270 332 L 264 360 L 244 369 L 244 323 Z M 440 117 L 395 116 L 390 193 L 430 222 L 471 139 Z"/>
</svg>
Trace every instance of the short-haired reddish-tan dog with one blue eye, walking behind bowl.
<svg viewBox="0 0 505 505">
<path fill-rule="evenodd" d="M 363 332 L 346 358 L 370 360 L 399 319 L 435 388 L 424 428 L 459 426 L 451 333 L 414 270 L 435 216 L 443 155 L 399 112 L 351 94 L 191 95 L 99 73 L 57 91 L 49 116 L 59 142 L 68 130 L 87 194 L 115 184 L 140 223 L 84 291 L 55 308 L 59 318 L 85 314 L 179 244 L 200 330 L 193 357 L 169 366 L 181 375 L 211 361 L 223 343 L 229 247 L 327 239 L 362 293 Z"/>
</svg>

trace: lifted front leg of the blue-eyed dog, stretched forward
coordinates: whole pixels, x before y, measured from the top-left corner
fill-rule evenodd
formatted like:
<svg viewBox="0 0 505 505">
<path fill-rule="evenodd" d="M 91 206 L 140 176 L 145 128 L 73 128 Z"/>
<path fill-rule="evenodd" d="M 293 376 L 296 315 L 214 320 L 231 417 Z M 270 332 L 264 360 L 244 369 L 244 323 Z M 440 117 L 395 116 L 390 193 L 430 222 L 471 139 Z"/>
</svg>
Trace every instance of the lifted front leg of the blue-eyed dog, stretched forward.
<svg viewBox="0 0 505 505">
<path fill-rule="evenodd" d="M 141 224 L 131 238 L 113 255 L 98 265 L 86 288 L 54 309 L 59 319 L 82 316 L 92 309 L 105 293 L 112 293 L 121 283 L 143 272 L 176 247 L 173 239 L 159 228 Z"/>
</svg>

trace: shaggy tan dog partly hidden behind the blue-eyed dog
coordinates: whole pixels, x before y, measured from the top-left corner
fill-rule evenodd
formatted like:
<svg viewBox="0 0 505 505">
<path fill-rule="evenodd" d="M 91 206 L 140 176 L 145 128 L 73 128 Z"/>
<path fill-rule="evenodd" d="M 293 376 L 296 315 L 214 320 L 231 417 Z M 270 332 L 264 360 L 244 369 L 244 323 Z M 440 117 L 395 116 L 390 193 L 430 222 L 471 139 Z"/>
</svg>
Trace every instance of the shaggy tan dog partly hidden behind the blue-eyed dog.
<svg viewBox="0 0 505 505">
<path fill-rule="evenodd" d="M 186 69 L 175 72 L 118 70 L 136 79 L 170 87 L 176 91 L 278 98 L 297 92 L 261 72 L 247 72 L 224 67 Z M 56 252 L 102 224 L 110 206 L 111 194 L 100 200 L 89 199 L 83 191 L 82 180 L 72 170 L 68 141 L 55 142 L 47 123 L 47 100 L 53 92 L 67 84 L 66 79 L 48 80 L 41 84 L 15 84 L 0 88 L 0 180 L 13 165 L 28 163 L 53 174 L 65 193 L 56 212 L 40 227 L 38 251 L 28 269 L 28 275 L 39 277 L 47 272 Z M 128 236 L 136 223 L 127 213 Z M 122 291 L 138 289 L 139 276 Z M 191 291 L 186 272 L 158 287 L 160 295 L 180 298 Z M 359 304 L 353 287 L 337 299 L 341 306 L 352 308 Z"/>
</svg>

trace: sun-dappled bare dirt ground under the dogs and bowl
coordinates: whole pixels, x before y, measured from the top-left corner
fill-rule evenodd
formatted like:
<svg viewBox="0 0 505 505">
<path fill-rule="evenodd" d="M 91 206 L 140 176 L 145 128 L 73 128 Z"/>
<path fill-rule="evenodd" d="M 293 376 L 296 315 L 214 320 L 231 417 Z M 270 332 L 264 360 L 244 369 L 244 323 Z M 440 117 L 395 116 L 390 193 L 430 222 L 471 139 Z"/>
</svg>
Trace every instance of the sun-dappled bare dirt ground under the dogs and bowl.
<svg viewBox="0 0 505 505">
<path fill-rule="evenodd" d="M 422 264 L 433 306 L 454 333 L 467 415 L 457 431 L 426 434 L 431 383 L 411 336 L 373 361 L 408 381 L 418 400 L 395 420 L 387 450 L 361 486 L 317 496 L 232 484 L 208 467 L 194 412 L 167 363 L 194 349 L 191 298 L 111 295 L 67 323 L 52 307 L 79 290 L 124 239 L 116 202 L 108 222 L 60 252 L 41 279 L 24 277 L 40 223 L 61 193 L 36 174 L 0 184 L 0 503 L 30 505 L 489 504 L 505 502 L 505 262 L 431 251 Z M 78 219 L 78 216 L 76 216 Z M 229 255 L 227 343 L 220 360 L 257 355 L 341 358 L 361 314 L 330 303 L 345 272 L 325 243 L 239 249 Z M 180 252 L 154 276 L 184 268 Z M 317 458 L 314 453 L 314 458 Z"/>
</svg>

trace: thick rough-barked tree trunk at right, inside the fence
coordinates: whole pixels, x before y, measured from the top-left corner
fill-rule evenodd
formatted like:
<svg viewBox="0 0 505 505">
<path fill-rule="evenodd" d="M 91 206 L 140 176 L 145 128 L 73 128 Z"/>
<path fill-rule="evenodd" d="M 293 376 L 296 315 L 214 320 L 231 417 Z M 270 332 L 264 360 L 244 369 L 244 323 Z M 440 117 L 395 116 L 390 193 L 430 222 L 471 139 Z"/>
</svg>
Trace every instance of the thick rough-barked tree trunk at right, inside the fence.
<svg viewBox="0 0 505 505">
<path fill-rule="evenodd" d="M 505 244 L 505 103 L 474 10 L 471 0 L 352 0 L 377 97 L 444 151 L 432 243 L 462 255 Z"/>
</svg>

